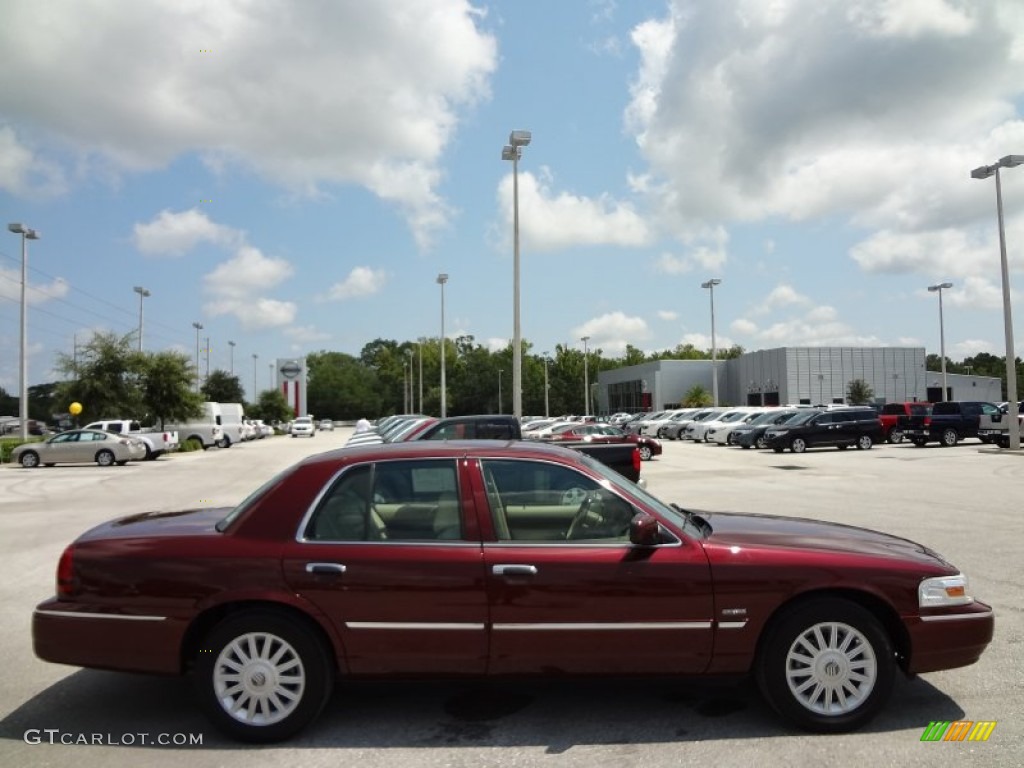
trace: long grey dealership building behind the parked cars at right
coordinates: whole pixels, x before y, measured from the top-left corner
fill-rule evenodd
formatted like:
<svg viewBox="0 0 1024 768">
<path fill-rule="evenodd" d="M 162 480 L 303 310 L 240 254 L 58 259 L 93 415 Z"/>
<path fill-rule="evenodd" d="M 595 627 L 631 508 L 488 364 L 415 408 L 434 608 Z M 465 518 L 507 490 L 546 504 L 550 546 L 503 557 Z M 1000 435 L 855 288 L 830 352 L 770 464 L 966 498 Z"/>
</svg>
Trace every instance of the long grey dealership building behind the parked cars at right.
<svg viewBox="0 0 1024 768">
<path fill-rule="evenodd" d="M 829 404 L 846 401 L 860 379 L 874 401 L 935 402 L 1002 399 L 1001 382 L 987 376 L 946 375 L 925 368 L 924 347 L 779 347 L 718 360 L 718 399 L 728 406 Z M 598 374 L 598 413 L 678 408 L 694 386 L 712 392 L 712 361 L 654 360 Z"/>
</svg>

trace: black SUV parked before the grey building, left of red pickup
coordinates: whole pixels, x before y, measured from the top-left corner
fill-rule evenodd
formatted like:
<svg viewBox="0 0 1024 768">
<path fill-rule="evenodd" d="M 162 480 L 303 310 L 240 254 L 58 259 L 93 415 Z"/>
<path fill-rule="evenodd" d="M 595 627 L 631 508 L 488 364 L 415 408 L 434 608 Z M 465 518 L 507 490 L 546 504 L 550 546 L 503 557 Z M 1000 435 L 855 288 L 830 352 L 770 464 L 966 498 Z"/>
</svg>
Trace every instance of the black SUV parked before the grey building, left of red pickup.
<svg viewBox="0 0 1024 768">
<path fill-rule="evenodd" d="M 882 421 L 873 408 L 838 408 L 798 414 L 785 424 L 765 430 L 765 443 L 776 454 L 790 449 L 802 454 L 809 447 L 835 445 L 846 451 L 869 449 L 883 439 Z"/>
</svg>

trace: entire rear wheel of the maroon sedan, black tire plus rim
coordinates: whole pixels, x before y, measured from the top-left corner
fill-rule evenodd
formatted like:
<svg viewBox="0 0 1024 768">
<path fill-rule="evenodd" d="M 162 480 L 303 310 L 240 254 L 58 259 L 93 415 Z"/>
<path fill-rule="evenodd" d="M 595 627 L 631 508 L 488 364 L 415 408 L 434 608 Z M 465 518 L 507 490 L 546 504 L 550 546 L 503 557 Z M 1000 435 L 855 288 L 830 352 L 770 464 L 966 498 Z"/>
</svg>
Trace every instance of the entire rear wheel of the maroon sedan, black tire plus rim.
<svg viewBox="0 0 1024 768">
<path fill-rule="evenodd" d="M 214 627 L 200 646 L 194 682 L 217 728 L 232 738 L 268 743 L 295 735 L 319 715 L 334 673 L 331 654 L 302 622 L 254 611 Z"/>
</svg>

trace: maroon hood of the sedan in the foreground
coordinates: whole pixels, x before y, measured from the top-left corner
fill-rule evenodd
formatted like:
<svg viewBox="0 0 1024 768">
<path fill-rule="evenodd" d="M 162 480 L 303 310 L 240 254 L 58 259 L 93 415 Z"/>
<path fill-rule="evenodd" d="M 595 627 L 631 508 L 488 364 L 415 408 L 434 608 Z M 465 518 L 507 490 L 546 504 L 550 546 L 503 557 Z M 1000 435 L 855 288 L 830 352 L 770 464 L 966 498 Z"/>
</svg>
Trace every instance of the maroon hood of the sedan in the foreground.
<svg viewBox="0 0 1024 768">
<path fill-rule="evenodd" d="M 878 530 L 799 517 L 725 512 L 695 514 L 711 526 L 703 541 L 709 556 L 722 550 L 735 554 L 743 550 L 768 549 L 886 557 L 953 567 L 924 545 Z"/>
</svg>

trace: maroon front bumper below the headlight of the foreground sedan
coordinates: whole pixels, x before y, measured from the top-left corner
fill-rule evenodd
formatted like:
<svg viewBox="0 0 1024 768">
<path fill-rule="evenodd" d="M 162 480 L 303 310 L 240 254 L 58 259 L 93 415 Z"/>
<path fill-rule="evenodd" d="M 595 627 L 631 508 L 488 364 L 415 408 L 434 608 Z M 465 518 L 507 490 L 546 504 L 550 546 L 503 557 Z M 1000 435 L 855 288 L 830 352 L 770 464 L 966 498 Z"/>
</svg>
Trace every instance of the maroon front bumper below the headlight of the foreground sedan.
<svg viewBox="0 0 1024 768">
<path fill-rule="evenodd" d="M 914 616 L 906 621 L 910 635 L 907 672 L 919 674 L 967 667 L 977 662 L 992 641 L 995 614 L 975 602 L 955 613 Z"/>
</svg>

